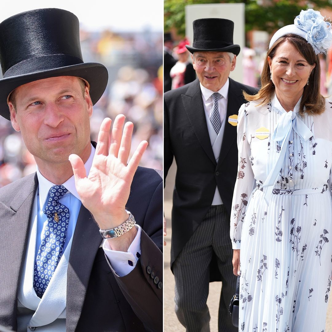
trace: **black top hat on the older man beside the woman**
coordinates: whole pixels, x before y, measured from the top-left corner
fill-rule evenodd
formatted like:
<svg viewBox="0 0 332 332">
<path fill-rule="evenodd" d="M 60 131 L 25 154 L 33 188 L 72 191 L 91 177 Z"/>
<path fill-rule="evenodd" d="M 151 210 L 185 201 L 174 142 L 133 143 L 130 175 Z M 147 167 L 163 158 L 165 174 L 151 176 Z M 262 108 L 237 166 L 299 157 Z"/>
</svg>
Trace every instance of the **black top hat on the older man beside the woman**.
<svg viewBox="0 0 332 332">
<path fill-rule="evenodd" d="M 240 53 L 240 45 L 233 44 L 234 22 L 226 19 L 199 19 L 193 22 L 193 47 L 186 45 L 191 53 L 198 51 Z"/>
</svg>

